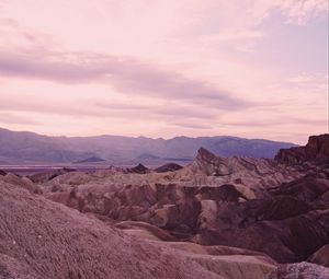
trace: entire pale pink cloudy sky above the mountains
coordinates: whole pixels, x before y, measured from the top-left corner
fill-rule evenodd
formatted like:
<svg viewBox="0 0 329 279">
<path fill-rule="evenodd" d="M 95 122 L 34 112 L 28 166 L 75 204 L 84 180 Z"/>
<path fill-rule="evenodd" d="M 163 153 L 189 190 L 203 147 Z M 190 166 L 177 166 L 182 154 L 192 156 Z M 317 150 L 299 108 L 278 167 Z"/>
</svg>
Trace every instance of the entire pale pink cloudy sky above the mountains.
<svg viewBox="0 0 329 279">
<path fill-rule="evenodd" d="M 0 0 L 0 127 L 52 136 L 328 131 L 327 0 Z"/>
</svg>

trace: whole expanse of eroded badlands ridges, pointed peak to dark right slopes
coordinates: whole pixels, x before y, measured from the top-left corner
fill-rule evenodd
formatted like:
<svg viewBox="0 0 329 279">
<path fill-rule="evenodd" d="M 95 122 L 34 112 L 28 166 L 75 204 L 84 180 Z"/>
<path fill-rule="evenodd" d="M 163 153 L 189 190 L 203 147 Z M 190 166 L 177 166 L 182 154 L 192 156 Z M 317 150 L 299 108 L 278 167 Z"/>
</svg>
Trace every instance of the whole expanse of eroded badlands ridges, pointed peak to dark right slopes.
<svg viewBox="0 0 329 279">
<path fill-rule="evenodd" d="M 149 223 L 167 240 L 257 249 L 293 263 L 329 242 L 327 171 L 305 176 L 305 168 L 266 159 L 218 158 L 200 149 L 177 172 L 70 173 L 42 187 L 49 199 L 81 212 Z"/>
</svg>

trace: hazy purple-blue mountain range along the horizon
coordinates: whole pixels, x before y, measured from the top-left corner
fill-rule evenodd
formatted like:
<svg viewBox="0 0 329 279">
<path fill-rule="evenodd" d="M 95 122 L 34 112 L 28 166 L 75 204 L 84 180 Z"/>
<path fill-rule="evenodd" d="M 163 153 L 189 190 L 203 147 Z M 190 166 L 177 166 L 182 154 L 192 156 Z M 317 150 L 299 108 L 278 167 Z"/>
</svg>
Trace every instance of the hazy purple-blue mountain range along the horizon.
<svg viewBox="0 0 329 279">
<path fill-rule="evenodd" d="M 204 147 L 220 156 L 246 155 L 274 158 L 280 149 L 296 147 L 290 142 L 243 139 L 229 136 L 175 137 L 48 137 L 0 128 L 0 164 L 160 164 L 186 163 Z"/>
</svg>

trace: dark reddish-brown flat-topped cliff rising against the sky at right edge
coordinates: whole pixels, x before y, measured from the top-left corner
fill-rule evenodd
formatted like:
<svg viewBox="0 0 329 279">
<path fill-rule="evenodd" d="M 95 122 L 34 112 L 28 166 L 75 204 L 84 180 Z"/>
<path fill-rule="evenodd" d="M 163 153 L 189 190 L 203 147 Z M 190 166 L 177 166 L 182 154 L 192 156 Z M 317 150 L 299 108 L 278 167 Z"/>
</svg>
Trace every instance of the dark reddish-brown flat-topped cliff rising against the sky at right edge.
<svg viewBox="0 0 329 279">
<path fill-rule="evenodd" d="M 329 133 L 311 136 L 305 147 L 281 149 L 275 156 L 280 163 L 300 164 L 329 158 Z"/>
</svg>

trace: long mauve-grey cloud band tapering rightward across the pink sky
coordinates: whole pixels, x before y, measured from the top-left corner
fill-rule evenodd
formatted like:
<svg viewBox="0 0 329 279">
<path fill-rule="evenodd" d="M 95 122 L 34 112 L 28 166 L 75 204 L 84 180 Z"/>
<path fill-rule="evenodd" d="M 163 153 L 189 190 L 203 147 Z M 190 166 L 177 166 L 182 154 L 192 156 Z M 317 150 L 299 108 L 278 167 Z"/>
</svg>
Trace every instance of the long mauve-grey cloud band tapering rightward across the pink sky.
<svg viewBox="0 0 329 279">
<path fill-rule="evenodd" d="M 228 92 L 207 82 L 182 77 L 160 67 L 133 59 L 123 59 L 89 54 L 0 53 L 0 72 L 8 77 L 45 79 L 64 83 L 86 83 L 109 81 L 112 85 L 129 94 L 152 97 L 186 100 L 204 105 L 217 105 L 222 109 L 237 109 L 250 103 L 235 98 Z"/>
</svg>

